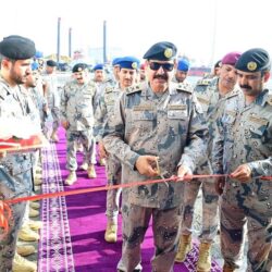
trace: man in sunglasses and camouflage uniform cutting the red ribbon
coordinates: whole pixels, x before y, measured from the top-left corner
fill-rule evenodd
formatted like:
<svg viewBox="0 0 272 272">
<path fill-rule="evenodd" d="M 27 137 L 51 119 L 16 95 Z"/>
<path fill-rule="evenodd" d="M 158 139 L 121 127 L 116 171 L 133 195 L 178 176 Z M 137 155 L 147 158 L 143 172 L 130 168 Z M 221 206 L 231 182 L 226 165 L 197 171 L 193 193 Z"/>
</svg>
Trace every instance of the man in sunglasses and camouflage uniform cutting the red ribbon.
<svg viewBox="0 0 272 272">
<path fill-rule="evenodd" d="M 122 183 L 190 175 L 205 156 L 207 127 L 191 89 L 170 84 L 176 47 L 162 41 L 144 55 L 148 85 L 122 94 L 103 137 L 122 162 Z M 152 217 L 153 271 L 173 271 L 178 244 L 183 183 L 164 182 L 122 190 L 123 247 L 119 271 L 140 263 L 140 244 Z"/>
</svg>

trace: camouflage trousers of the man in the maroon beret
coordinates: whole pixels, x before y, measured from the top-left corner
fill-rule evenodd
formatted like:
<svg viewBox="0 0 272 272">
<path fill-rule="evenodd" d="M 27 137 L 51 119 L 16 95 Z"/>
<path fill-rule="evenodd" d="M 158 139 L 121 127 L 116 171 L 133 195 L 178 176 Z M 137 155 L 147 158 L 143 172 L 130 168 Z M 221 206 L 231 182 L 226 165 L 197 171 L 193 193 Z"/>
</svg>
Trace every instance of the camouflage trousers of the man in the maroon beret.
<svg viewBox="0 0 272 272">
<path fill-rule="evenodd" d="M 191 234 L 194 207 L 200 186 L 202 188 L 202 231 L 199 239 L 210 243 L 215 238 L 219 226 L 219 196 L 215 191 L 213 178 L 193 180 L 185 184 L 182 234 Z"/>
</svg>

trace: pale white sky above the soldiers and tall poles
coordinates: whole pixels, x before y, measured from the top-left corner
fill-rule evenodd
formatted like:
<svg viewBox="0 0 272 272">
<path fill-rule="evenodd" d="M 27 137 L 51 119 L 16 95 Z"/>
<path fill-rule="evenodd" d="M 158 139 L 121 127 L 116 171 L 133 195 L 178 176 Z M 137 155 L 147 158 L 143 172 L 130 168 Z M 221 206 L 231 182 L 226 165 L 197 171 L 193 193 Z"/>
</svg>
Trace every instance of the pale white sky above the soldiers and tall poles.
<svg viewBox="0 0 272 272">
<path fill-rule="evenodd" d="M 9 35 L 32 38 L 45 55 L 57 53 L 61 18 L 61 54 L 103 45 L 141 60 L 153 44 L 176 45 L 180 55 L 211 65 L 231 51 L 261 47 L 272 54 L 270 0 L 4 0 L 0 39 Z M 118 57 L 110 55 L 109 58 Z"/>
</svg>

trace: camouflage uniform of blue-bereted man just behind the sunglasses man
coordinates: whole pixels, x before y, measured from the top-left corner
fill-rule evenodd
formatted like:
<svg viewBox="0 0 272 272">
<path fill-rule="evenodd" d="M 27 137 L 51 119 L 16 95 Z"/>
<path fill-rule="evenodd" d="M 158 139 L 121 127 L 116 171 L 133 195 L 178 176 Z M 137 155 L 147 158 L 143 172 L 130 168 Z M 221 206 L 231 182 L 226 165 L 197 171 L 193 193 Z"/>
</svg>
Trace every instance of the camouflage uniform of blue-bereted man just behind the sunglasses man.
<svg viewBox="0 0 272 272">
<path fill-rule="evenodd" d="M 104 95 L 100 97 L 98 108 L 96 109 L 96 129 L 98 135 L 96 139 L 99 141 L 102 138 L 104 125 L 110 115 L 114 113 L 114 104 L 121 96 L 122 90 L 116 84 L 115 87 L 107 87 Z M 108 185 L 121 184 L 121 163 L 114 154 L 107 158 L 107 180 Z M 116 224 L 119 206 L 120 206 L 121 189 L 111 189 L 107 191 L 107 211 L 106 214 L 110 221 Z"/>
</svg>

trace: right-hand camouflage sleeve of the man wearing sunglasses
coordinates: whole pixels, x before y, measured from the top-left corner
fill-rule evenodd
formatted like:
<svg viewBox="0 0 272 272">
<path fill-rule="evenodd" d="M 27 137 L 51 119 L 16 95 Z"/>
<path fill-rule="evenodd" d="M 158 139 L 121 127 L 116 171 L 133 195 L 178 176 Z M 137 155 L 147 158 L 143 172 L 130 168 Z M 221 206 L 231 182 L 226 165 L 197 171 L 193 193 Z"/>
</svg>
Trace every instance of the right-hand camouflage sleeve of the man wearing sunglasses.
<svg viewBox="0 0 272 272">
<path fill-rule="evenodd" d="M 177 166 L 184 165 L 194 172 L 196 166 L 200 165 L 207 157 L 208 127 L 195 95 L 193 95 L 191 100 L 187 143 Z"/>
</svg>

